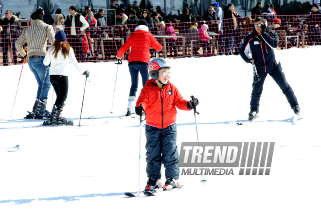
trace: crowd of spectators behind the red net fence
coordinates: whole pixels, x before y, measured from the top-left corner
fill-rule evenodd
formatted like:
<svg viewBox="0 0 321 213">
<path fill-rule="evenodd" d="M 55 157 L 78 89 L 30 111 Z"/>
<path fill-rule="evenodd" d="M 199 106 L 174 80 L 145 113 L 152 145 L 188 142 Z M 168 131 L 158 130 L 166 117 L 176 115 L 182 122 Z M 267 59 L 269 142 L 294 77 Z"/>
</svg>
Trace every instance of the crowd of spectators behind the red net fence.
<svg viewBox="0 0 321 213">
<path fill-rule="evenodd" d="M 162 43 L 162 39 L 158 36 L 172 36 L 166 38 L 167 52 L 161 52 L 160 56 L 183 56 L 182 48 L 190 47 L 191 40 L 194 40 L 193 49 L 186 49 L 185 55 L 237 55 L 242 40 L 253 30 L 253 20 L 257 16 L 265 17 L 268 27 L 272 30 L 285 31 L 286 35 L 301 35 L 303 31 L 305 32 L 307 38 L 304 44 L 302 38 L 298 40 L 293 36 L 287 47 L 320 45 L 321 10 L 318 4 L 313 4 L 310 8 L 311 14 L 306 16 L 277 16 L 272 4 L 263 6 L 262 2 L 258 1 L 256 6 L 251 9 L 251 16 L 241 17 L 233 4 L 222 8 L 222 5 L 215 2 L 208 7 L 203 16 L 196 17 L 191 13 L 190 8 L 185 7 L 179 19 L 166 19 L 160 6 L 154 10 L 152 6 L 149 9 L 141 9 L 128 4 L 126 8 L 124 5 L 116 8 L 116 25 L 107 26 L 103 8 L 94 14 L 91 8 L 86 6 L 85 11 L 80 14 L 75 6 L 71 6 L 70 15 L 67 17 L 61 14 L 60 9 L 57 9 L 52 22 L 54 33 L 63 30 L 67 34 L 68 42 L 80 62 L 116 60 L 118 49 L 130 34 L 134 33 L 140 20 L 147 22 L 149 32 L 156 36 L 158 42 Z M 0 26 L 2 26 L 0 28 L 0 45 L 3 66 L 9 64 L 9 50 L 12 50 L 13 53 L 11 62 L 13 64 L 22 63 L 22 60 L 19 60 L 21 56 L 17 54 L 15 47 L 16 40 L 23 30 L 18 17 L 8 10 L 1 18 Z M 184 35 L 187 38 L 186 43 L 183 44 L 182 39 L 173 37 L 177 35 Z M 103 40 L 102 44 L 100 38 L 111 39 Z M 280 46 L 282 45 L 284 42 L 281 42 Z M 151 57 L 156 57 L 156 50 L 151 49 L 150 54 Z M 124 57 L 128 59 L 128 52 L 124 54 Z"/>
</svg>

